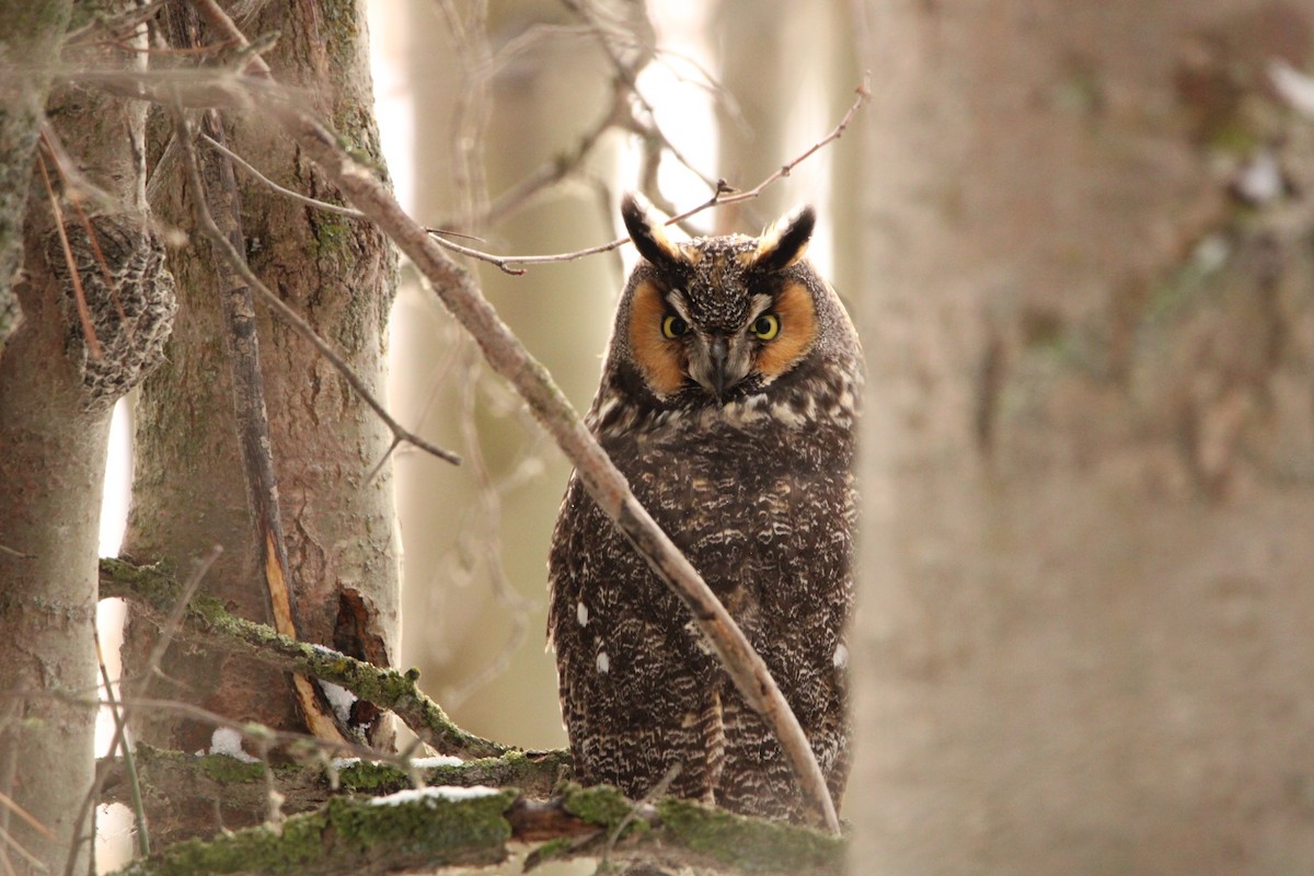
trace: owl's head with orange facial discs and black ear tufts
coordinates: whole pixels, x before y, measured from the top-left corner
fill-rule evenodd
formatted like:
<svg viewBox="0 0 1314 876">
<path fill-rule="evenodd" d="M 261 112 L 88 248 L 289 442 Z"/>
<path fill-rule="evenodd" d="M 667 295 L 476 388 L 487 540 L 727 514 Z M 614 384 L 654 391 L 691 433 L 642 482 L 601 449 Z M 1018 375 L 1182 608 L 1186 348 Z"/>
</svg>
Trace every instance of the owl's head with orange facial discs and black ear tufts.
<svg viewBox="0 0 1314 876">
<path fill-rule="evenodd" d="M 668 238 L 640 194 L 627 194 L 620 210 L 643 261 L 622 298 L 612 353 L 661 406 L 716 405 L 762 391 L 825 340 L 836 309 L 842 314 L 804 259 L 812 208 L 786 214 L 756 238 L 687 242 Z M 846 317 L 842 322 L 848 326 Z"/>
</svg>

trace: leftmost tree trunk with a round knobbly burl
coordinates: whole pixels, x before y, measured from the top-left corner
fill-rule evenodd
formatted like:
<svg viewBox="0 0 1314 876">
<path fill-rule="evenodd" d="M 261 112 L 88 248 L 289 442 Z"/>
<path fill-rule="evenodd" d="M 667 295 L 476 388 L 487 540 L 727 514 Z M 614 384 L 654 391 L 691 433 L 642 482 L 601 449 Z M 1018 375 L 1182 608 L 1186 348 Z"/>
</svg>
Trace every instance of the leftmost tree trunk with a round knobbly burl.
<svg viewBox="0 0 1314 876">
<path fill-rule="evenodd" d="M 68 4 L 42 4 L 41 12 L 41 32 L 18 33 L 41 47 L 29 63 L 53 64 Z M 79 12 L 74 24 L 87 24 L 88 11 Z M 16 54 L 22 58 L 26 46 Z M 139 58 L 104 46 L 64 55 L 71 66 L 101 70 Z M 0 357 L 0 856 L 11 873 L 66 865 L 81 873 L 92 860 L 96 711 L 87 700 L 99 680 L 92 633 L 110 411 L 159 361 L 173 297 L 147 230 L 145 105 L 78 85 L 51 93 L 47 142 L 62 144 L 67 159 L 45 150 L 41 168 L 58 193 L 57 215 L 34 148 L 45 92 L 29 87 L 21 95 L 5 88 L 5 123 L 25 117 L 32 135 L 26 151 L 5 148 L 0 171 L 14 183 L 8 204 L 21 210 L 25 194 L 28 205 L 14 284 L 22 318 Z"/>
</svg>

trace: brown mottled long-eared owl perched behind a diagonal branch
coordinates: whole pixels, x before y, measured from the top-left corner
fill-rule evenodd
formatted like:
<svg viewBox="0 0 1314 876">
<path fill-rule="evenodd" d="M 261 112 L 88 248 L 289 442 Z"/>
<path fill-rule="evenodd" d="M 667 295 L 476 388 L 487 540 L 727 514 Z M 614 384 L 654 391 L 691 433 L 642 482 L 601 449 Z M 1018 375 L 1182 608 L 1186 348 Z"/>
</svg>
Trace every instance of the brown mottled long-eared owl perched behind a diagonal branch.
<svg viewBox="0 0 1314 876">
<path fill-rule="evenodd" d="M 795 210 L 761 236 L 673 242 L 637 194 L 643 256 L 586 422 L 703 575 L 798 716 L 838 806 L 849 766 L 853 453 L 862 349 L 804 257 Z M 572 474 L 548 561 L 548 640 L 577 777 L 802 821 L 770 729 L 689 609 Z"/>
</svg>

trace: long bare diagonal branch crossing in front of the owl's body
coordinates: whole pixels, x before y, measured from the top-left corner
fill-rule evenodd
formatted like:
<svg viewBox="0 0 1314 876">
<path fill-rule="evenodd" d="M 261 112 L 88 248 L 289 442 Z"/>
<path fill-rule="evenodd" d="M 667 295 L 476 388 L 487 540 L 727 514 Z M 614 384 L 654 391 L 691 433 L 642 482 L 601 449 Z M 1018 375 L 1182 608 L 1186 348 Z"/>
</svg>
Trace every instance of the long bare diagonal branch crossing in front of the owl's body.
<svg viewBox="0 0 1314 876">
<path fill-rule="evenodd" d="M 219 34 L 244 45 L 240 30 L 214 0 L 192 0 L 192 3 Z M 248 68 L 256 70 L 263 76 L 269 75 L 268 66 L 258 53 L 250 53 L 247 58 Z M 599 510 L 616 524 L 658 578 L 685 603 L 735 687 L 771 728 L 804 796 L 821 814 L 823 823 L 838 834 L 840 821 L 812 746 L 766 663 L 753 650 L 738 624 L 716 599 L 692 563 L 635 499 L 624 475 L 590 435 L 547 369 L 530 355 L 497 315 L 469 272 L 447 257 L 428 232 L 406 215 L 388 186 L 343 150 L 328 129 L 297 106 L 275 105 L 271 109 L 306 155 L 428 277 L 442 302 L 478 343 L 493 370 L 515 387 L 539 423 L 574 464 L 585 489 Z"/>
</svg>

